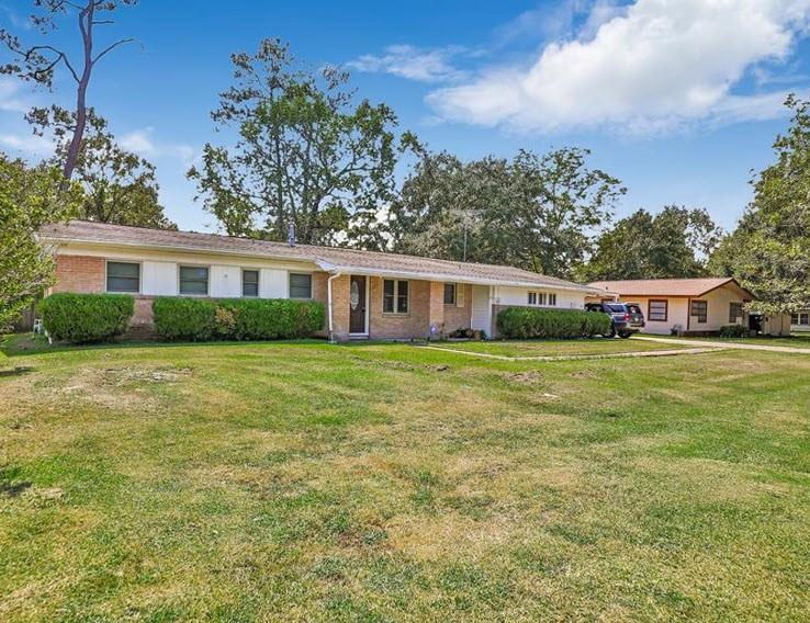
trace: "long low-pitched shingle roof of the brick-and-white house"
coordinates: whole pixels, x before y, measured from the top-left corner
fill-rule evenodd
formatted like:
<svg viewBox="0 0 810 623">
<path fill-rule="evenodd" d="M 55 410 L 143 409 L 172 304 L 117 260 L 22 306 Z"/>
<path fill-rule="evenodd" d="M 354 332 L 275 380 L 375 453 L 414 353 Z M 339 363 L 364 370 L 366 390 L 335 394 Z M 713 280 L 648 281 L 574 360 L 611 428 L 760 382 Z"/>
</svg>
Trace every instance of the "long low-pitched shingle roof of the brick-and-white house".
<svg viewBox="0 0 810 623">
<path fill-rule="evenodd" d="M 358 251 L 338 247 L 317 247 L 271 242 L 249 238 L 169 231 L 109 225 L 89 220 L 46 225 L 40 230 L 43 240 L 121 245 L 169 251 L 223 253 L 267 259 L 310 261 L 324 270 L 361 272 L 380 275 L 403 275 L 410 279 L 436 279 L 490 285 L 547 286 L 562 290 L 594 292 L 595 288 L 511 267 L 435 260 L 375 251 Z"/>
</svg>

